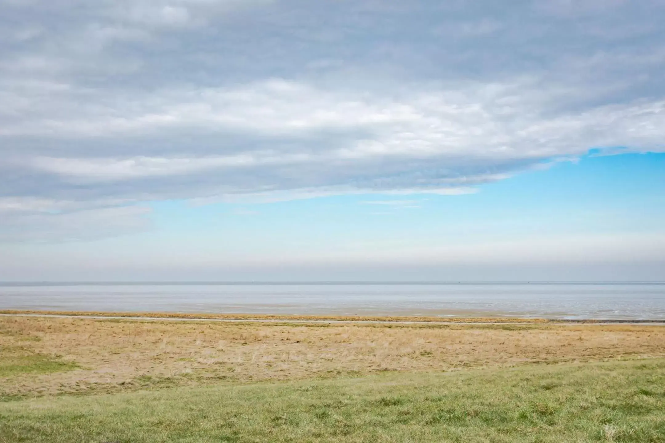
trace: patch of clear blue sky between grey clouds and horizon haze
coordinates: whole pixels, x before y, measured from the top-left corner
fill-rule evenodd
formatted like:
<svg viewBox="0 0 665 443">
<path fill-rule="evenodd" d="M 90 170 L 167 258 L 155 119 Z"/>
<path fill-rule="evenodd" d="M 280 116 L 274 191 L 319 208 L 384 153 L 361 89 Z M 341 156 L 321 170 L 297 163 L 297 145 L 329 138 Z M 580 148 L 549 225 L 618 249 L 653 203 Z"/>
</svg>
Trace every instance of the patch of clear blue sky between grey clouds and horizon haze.
<svg viewBox="0 0 665 443">
<path fill-rule="evenodd" d="M 558 162 L 463 195 L 338 195 L 261 204 L 154 202 L 160 236 L 309 244 L 456 236 L 664 232 L 665 154 Z"/>
</svg>

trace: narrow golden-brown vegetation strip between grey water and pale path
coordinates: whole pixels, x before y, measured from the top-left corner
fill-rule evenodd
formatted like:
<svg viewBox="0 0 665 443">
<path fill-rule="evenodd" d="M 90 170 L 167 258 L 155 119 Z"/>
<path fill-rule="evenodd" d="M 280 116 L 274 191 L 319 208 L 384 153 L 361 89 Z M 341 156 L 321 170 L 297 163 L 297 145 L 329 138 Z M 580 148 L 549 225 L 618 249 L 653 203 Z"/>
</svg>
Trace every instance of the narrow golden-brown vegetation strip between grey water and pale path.
<svg viewBox="0 0 665 443">
<path fill-rule="evenodd" d="M 174 313 L 174 312 L 106 312 L 106 311 L 38 311 L 0 310 L 3 315 L 66 315 L 73 317 L 128 317 L 156 319 L 206 320 L 284 320 L 284 321 L 384 321 L 422 323 L 665 323 L 665 319 L 544 319 L 528 317 L 429 317 L 400 315 L 278 315 L 245 313 Z"/>
</svg>

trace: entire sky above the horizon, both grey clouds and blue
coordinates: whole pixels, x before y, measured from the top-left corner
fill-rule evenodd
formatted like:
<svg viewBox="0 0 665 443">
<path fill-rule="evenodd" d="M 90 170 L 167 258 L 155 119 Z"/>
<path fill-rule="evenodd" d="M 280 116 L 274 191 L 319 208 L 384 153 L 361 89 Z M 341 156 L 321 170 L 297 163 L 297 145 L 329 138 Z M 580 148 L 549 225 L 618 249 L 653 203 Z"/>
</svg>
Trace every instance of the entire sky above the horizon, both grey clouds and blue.
<svg viewBox="0 0 665 443">
<path fill-rule="evenodd" d="M 0 280 L 665 280 L 664 0 L 0 8 Z"/>
</svg>

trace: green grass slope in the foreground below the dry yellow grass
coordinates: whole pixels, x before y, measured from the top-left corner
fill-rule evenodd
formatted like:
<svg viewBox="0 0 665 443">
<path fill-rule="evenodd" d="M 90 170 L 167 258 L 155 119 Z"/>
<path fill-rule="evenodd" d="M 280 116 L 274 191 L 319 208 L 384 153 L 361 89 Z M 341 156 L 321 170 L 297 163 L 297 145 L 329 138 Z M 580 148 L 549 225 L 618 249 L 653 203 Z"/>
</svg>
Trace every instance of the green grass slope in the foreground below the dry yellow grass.
<svg viewBox="0 0 665 443">
<path fill-rule="evenodd" d="M 0 442 L 665 442 L 665 359 L 0 404 Z"/>
</svg>

